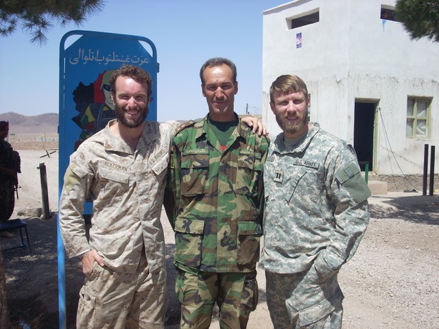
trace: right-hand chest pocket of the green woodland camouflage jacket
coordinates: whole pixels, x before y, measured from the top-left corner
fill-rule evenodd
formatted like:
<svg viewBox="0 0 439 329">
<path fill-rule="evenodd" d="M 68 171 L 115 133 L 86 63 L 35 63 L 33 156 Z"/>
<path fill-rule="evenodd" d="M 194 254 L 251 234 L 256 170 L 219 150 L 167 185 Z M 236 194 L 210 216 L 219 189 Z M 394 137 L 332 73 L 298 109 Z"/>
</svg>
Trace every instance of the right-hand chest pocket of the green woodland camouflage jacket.
<svg viewBox="0 0 439 329">
<path fill-rule="evenodd" d="M 258 182 L 262 173 L 262 155 L 241 149 L 237 159 L 235 192 L 237 194 L 255 196 L 258 193 Z"/>
</svg>

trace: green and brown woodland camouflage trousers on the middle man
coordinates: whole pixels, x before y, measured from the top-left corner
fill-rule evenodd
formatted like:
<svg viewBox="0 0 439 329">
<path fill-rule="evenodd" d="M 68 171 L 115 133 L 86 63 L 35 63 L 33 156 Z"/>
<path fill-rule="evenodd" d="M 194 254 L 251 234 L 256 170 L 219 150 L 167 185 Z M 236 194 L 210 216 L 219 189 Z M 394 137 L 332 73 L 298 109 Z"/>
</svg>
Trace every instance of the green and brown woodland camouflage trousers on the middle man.
<svg viewBox="0 0 439 329">
<path fill-rule="evenodd" d="M 256 271 L 193 274 L 176 268 L 176 294 L 181 304 L 182 329 L 209 328 L 215 302 L 219 328 L 246 328 L 258 302 Z"/>
</svg>

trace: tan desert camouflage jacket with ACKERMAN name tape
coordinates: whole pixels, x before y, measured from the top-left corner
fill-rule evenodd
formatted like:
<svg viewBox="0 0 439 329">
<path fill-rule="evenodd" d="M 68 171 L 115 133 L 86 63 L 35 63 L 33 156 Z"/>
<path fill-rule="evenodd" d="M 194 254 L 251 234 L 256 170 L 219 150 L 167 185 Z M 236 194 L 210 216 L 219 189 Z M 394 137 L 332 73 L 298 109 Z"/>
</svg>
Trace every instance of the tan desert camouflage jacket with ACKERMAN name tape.
<svg viewBox="0 0 439 329">
<path fill-rule="evenodd" d="M 60 199 L 60 230 L 69 257 L 96 249 L 115 271 L 136 271 L 143 245 L 150 271 L 165 264 L 161 209 L 177 122 L 146 121 L 137 149 L 110 132 L 110 121 L 71 155 Z M 82 213 L 93 200 L 90 240 Z"/>
</svg>

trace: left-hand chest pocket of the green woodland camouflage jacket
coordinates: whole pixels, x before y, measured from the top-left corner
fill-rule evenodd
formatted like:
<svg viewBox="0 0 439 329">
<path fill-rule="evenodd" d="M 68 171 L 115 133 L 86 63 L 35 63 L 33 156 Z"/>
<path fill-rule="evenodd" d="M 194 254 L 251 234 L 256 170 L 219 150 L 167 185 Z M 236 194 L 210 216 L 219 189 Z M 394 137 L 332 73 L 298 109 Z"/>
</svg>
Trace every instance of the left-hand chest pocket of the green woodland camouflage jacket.
<svg viewBox="0 0 439 329">
<path fill-rule="evenodd" d="M 209 151 L 185 152 L 181 160 L 182 195 L 190 197 L 207 191 L 209 191 Z"/>
</svg>

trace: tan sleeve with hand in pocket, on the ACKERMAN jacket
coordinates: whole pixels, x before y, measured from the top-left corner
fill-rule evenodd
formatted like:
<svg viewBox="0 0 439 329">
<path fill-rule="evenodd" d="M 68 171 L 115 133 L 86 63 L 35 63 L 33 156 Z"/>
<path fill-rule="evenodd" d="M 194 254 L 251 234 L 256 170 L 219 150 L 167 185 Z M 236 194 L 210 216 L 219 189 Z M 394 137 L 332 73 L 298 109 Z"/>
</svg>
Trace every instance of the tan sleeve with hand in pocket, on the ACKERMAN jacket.
<svg viewBox="0 0 439 329">
<path fill-rule="evenodd" d="M 90 250 L 86 239 L 84 200 L 88 194 L 91 175 L 75 153 L 64 174 L 60 197 L 60 232 L 67 256 L 73 257 Z"/>
</svg>

